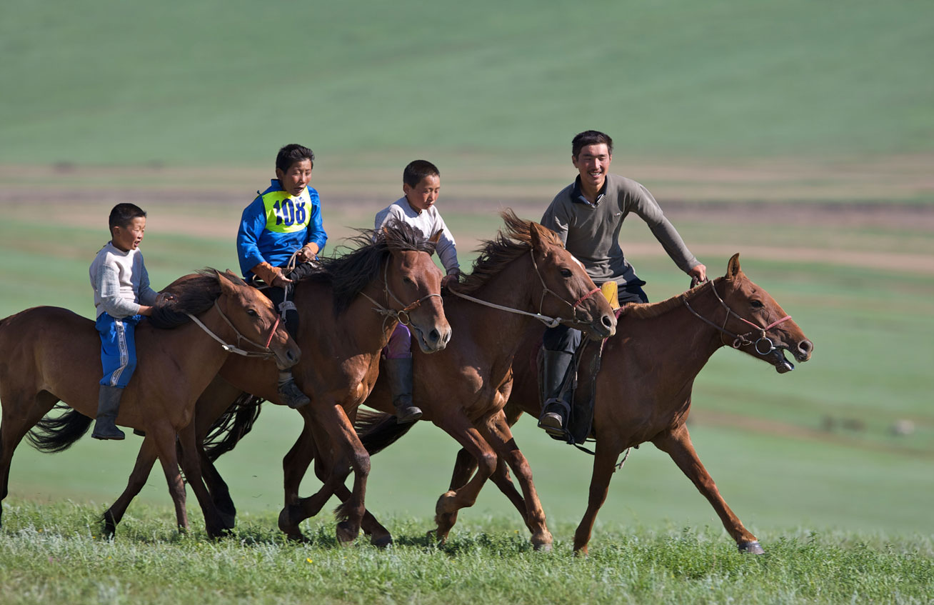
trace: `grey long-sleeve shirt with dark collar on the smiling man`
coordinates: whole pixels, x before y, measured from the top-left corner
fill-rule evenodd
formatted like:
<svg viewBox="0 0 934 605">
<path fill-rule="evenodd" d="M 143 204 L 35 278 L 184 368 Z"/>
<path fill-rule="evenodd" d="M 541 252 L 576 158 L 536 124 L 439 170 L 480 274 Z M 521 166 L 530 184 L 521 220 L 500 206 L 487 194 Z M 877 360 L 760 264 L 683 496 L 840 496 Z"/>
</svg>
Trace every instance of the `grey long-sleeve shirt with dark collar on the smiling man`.
<svg viewBox="0 0 934 605">
<path fill-rule="evenodd" d="M 558 233 L 598 286 L 611 280 L 620 286 L 645 283 L 636 276 L 619 246 L 619 230 L 630 213 L 645 221 L 679 269 L 687 273 L 701 264 L 642 185 L 625 176 L 607 175 L 597 204 L 593 205 L 580 195 L 579 178 L 555 196 L 542 224 Z"/>
</svg>

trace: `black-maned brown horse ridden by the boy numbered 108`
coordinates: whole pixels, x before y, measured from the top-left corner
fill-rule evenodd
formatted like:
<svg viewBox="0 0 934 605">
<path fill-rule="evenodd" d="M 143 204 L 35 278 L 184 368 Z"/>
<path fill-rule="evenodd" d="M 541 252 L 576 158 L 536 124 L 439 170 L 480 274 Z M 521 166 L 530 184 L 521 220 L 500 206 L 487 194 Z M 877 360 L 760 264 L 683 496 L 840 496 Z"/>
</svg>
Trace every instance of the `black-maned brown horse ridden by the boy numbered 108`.
<svg viewBox="0 0 934 605">
<path fill-rule="evenodd" d="M 304 417 L 303 434 L 327 444 L 325 451 L 334 471 L 325 489 L 333 491 L 339 485 L 343 488 L 339 491 L 347 499 L 337 527 L 340 542 L 351 542 L 359 533 L 370 470 L 369 455 L 348 415 L 354 414 L 373 388 L 380 351 L 400 319 L 408 323 L 426 353 L 442 350 L 451 338 L 441 303 L 441 271 L 431 258 L 440 233 L 425 240 L 409 225 L 394 222 L 378 237 L 375 235 L 373 231 L 361 230 L 351 240 L 358 245 L 357 249 L 341 257 L 322 259 L 322 271 L 298 282 L 293 296 L 300 316 L 296 340 L 304 345 L 304 355 L 292 368 L 292 374 L 312 400 L 298 411 Z M 185 279 L 165 288 L 166 291 L 174 291 Z M 277 372 L 272 364 L 231 358 L 220 369 L 219 377 L 196 406 L 193 424 L 197 426 L 199 445 L 212 423 L 243 391 L 279 403 Z M 218 495 L 227 494 L 219 473 L 207 458 L 192 457 L 199 458 L 199 465 L 202 459 L 208 462 L 205 480 L 214 499 L 223 506 L 229 497 L 225 500 Z M 116 525 L 120 521 L 130 499 L 144 485 L 154 461 L 152 452 L 140 451 L 136 481 L 128 485 L 107 511 L 109 522 Z M 352 492 L 344 487 L 351 470 L 355 473 Z M 330 493 L 320 498 L 327 500 Z M 314 497 L 308 500 L 309 506 L 314 506 Z M 211 514 L 221 514 L 225 528 L 233 528 L 233 511 L 227 512 L 233 504 L 223 506 L 220 511 L 213 502 L 205 504 L 199 499 L 199 504 L 210 509 Z"/>
</svg>

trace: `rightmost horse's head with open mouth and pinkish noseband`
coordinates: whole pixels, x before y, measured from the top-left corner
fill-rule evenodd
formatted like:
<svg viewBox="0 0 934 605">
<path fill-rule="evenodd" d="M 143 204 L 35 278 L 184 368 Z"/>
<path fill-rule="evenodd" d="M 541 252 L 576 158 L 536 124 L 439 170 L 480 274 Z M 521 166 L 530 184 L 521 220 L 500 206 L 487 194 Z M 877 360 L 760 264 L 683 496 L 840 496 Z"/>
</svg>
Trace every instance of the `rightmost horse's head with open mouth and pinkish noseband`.
<svg viewBox="0 0 934 605">
<path fill-rule="evenodd" d="M 729 311 L 722 331 L 732 332 L 730 335 L 735 336 L 734 348 L 765 359 L 778 373 L 795 369 L 795 365 L 785 358 L 785 351 L 800 362 L 811 359 L 814 344 L 769 292 L 746 277 L 740 268 L 739 254 L 734 254 L 729 260 L 722 283 L 724 294 L 721 304 Z"/>
</svg>

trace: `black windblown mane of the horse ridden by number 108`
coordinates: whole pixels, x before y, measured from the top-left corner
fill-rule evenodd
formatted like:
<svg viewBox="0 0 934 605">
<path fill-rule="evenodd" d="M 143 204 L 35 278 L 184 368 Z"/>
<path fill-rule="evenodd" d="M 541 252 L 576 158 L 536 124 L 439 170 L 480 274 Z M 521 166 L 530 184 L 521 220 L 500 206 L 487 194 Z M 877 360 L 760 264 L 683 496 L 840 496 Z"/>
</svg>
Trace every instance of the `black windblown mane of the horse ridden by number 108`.
<svg viewBox="0 0 934 605">
<path fill-rule="evenodd" d="M 434 253 L 434 242 L 417 227 L 398 218 L 392 218 L 382 229 L 358 229 L 347 238 L 353 248 L 340 256 L 321 257 L 321 271 L 308 275 L 305 280 L 325 282 L 333 288 L 334 315 L 347 310 L 363 288 L 379 276 L 383 262 L 392 252 Z"/>
</svg>

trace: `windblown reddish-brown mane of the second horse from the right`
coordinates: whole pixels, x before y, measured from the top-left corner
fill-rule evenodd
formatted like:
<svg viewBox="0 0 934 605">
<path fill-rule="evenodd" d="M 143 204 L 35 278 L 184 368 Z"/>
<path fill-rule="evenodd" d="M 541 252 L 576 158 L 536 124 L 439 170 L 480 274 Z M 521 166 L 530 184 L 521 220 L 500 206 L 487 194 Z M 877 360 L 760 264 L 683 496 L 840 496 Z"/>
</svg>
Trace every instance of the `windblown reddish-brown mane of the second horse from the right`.
<svg viewBox="0 0 934 605">
<path fill-rule="evenodd" d="M 518 218 L 510 208 L 500 212 L 505 225 L 491 240 L 484 241 L 475 251 L 474 270 L 455 288 L 464 294 L 472 294 L 482 288 L 491 277 L 500 274 L 502 267 L 531 250 L 531 220 Z M 546 230 L 548 243 L 563 247 L 555 232 Z"/>
</svg>

